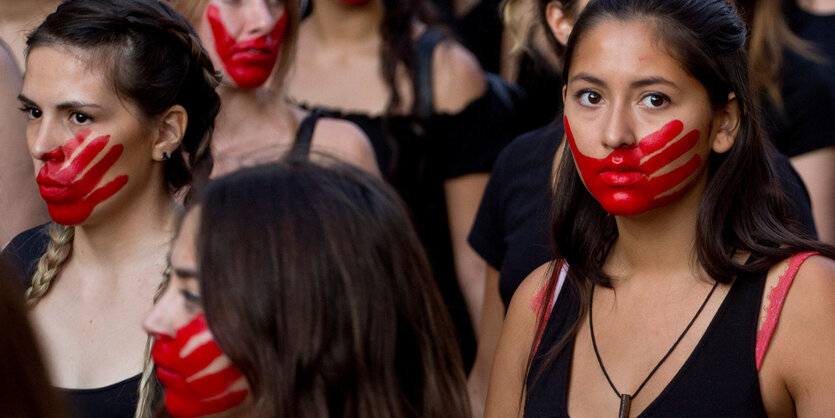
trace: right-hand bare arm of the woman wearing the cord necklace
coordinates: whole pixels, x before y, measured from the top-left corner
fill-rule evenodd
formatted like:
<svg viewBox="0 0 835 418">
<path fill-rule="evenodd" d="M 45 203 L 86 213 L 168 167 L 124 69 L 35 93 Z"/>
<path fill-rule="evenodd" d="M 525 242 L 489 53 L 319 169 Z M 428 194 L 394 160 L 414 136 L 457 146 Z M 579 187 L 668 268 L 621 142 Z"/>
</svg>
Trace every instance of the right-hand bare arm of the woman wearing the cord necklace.
<svg viewBox="0 0 835 418">
<path fill-rule="evenodd" d="M 785 270 L 785 263 L 772 274 Z M 835 261 L 801 265 L 760 369 L 769 415 L 827 416 L 835 411 Z M 775 413 L 776 412 L 776 413 Z"/>
</svg>

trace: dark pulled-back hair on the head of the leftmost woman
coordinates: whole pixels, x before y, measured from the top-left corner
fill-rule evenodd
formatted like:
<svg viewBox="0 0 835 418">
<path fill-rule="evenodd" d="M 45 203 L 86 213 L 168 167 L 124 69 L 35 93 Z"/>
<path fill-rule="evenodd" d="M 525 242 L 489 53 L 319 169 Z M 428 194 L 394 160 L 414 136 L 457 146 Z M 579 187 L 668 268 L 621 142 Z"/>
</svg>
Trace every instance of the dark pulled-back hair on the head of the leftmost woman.
<svg viewBox="0 0 835 418">
<path fill-rule="evenodd" d="M 165 162 L 172 192 L 212 169 L 209 141 L 220 110 L 220 78 L 188 22 L 156 0 L 64 2 L 26 41 L 90 53 L 108 69 L 114 90 L 151 118 L 181 105 L 188 113 L 182 144 Z"/>
</svg>

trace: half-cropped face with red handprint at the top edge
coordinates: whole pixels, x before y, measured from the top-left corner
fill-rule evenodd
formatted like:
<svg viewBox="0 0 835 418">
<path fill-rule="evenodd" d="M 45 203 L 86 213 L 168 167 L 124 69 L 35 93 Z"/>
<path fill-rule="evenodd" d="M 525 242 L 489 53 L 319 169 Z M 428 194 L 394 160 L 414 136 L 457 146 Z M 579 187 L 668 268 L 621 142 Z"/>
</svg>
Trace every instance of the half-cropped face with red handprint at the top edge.
<svg viewBox="0 0 835 418">
<path fill-rule="evenodd" d="M 278 61 L 287 13 L 277 0 L 209 0 L 196 24 L 224 79 L 242 89 L 263 85 Z"/>
</svg>

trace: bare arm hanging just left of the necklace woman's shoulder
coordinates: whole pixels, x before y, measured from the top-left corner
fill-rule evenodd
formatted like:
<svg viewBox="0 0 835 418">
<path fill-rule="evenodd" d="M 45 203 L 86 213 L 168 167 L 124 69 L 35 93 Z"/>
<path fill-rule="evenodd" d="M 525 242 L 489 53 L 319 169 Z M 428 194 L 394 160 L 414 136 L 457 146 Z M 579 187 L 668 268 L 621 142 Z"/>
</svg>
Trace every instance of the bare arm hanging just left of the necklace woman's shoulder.
<svg viewBox="0 0 835 418">
<path fill-rule="evenodd" d="M 490 368 L 493 356 L 499 344 L 499 336 L 504 324 L 504 306 L 499 296 L 499 272 L 487 266 L 487 280 L 484 283 L 484 305 L 481 310 L 481 326 L 478 333 L 478 351 L 475 363 L 467 379 L 470 392 L 470 407 L 473 417 L 484 416 L 484 403 L 487 398 L 487 383 L 490 381 Z"/>
</svg>

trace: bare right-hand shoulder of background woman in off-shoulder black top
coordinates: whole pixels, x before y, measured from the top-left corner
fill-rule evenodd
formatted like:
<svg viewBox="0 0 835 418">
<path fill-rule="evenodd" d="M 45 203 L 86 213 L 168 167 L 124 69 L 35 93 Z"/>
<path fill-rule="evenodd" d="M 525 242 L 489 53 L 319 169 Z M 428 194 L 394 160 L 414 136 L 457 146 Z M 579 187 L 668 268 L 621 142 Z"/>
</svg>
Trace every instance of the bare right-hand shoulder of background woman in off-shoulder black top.
<svg viewBox="0 0 835 418">
<path fill-rule="evenodd" d="M 458 113 L 484 94 L 487 84 L 475 56 L 458 42 L 443 40 L 432 54 L 435 111 Z"/>
</svg>

